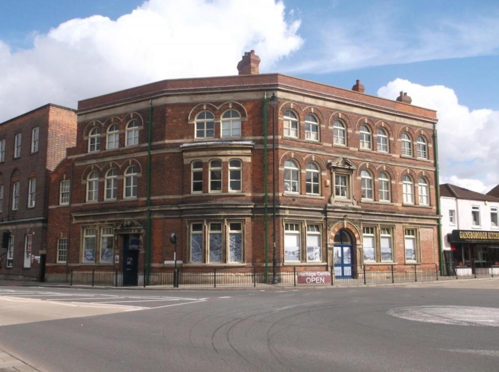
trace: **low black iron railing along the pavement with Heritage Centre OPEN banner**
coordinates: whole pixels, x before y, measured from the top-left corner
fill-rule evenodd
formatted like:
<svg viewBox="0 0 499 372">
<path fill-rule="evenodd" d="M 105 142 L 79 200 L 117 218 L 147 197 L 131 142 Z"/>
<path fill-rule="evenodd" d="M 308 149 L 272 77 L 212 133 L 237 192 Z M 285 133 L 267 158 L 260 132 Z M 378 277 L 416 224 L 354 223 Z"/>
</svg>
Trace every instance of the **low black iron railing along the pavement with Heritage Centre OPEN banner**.
<svg viewBox="0 0 499 372">
<path fill-rule="evenodd" d="M 309 280 L 309 274 L 316 280 Z M 306 274 L 303 274 L 306 273 Z M 445 275 L 442 275 L 444 273 Z M 418 281 L 452 280 L 459 278 L 480 278 L 499 276 L 499 266 L 471 268 L 455 266 L 444 270 L 438 264 L 413 265 L 358 265 L 352 267 L 351 275 L 336 276 L 334 267 L 319 268 L 285 267 L 276 272 L 262 267 L 244 269 L 213 268 L 211 271 L 194 269 L 179 270 L 179 287 L 259 287 L 259 286 L 307 286 L 307 285 L 368 285 L 382 283 L 406 283 Z M 151 272 L 133 276 L 115 271 L 71 271 L 70 285 L 89 286 L 174 286 L 174 273 Z"/>
</svg>

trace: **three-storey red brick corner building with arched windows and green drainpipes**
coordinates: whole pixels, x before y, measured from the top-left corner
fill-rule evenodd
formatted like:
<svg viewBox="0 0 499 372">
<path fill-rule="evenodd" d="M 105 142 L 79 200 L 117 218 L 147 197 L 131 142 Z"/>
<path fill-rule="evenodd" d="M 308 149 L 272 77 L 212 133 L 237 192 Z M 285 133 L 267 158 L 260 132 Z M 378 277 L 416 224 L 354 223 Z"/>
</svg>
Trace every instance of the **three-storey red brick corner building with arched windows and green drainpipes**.
<svg viewBox="0 0 499 372">
<path fill-rule="evenodd" d="M 436 112 L 258 63 L 78 103 L 50 177 L 50 280 L 171 271 L 172 232 L 182 270 L 271 265 L 274 242 L 278 270 L 438 262 Z"/>
</svg>

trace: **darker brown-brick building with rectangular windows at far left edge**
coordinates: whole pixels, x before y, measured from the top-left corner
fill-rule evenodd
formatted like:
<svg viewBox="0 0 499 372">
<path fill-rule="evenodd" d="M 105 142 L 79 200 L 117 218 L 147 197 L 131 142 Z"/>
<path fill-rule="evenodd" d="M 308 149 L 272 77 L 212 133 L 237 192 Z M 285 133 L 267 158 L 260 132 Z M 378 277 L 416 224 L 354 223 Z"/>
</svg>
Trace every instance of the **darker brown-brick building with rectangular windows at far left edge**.
<svg viewBox="0 0 499 372">
<path fill-rule="evenodd" d="M 44 269 L 49 174 L 76 143 L 74 110 L 47 104 L 0 124 L 1 278 Z"/>
</svg>

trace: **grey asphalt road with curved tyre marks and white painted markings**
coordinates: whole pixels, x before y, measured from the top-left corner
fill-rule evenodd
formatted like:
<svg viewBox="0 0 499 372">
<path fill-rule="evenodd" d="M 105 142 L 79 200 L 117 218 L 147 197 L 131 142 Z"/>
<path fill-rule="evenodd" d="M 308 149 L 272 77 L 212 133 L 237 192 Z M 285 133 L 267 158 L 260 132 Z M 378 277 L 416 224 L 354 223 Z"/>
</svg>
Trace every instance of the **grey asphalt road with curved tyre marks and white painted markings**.
<svg viewBox="0 0 499 372">
<path fill-rule="evenodd" d="M 54 372 L 498 371 L 498 288 L 0 287 L 0 348 Z"/>
</svg>

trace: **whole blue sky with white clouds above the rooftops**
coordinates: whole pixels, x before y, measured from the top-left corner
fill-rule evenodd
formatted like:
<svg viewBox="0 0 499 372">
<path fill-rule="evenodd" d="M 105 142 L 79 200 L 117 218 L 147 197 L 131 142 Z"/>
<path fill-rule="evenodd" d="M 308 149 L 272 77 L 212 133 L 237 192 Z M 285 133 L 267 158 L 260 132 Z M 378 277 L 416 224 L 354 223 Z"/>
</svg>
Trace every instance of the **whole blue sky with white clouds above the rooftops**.
<svg viewBox="0 0 499 372">
<path fill-rule="evenodd" d="M 47 100 L 75 107 L 149 81 L 235 74 L 253 48 L 261 72 L 407 90 L 439 110 L 443 181 L 499 183 L 498 1 L 2 0 L 0 14 L 0 121 Z M 480 151 L 464 156 L 460 136 Z"/>
</svg>

